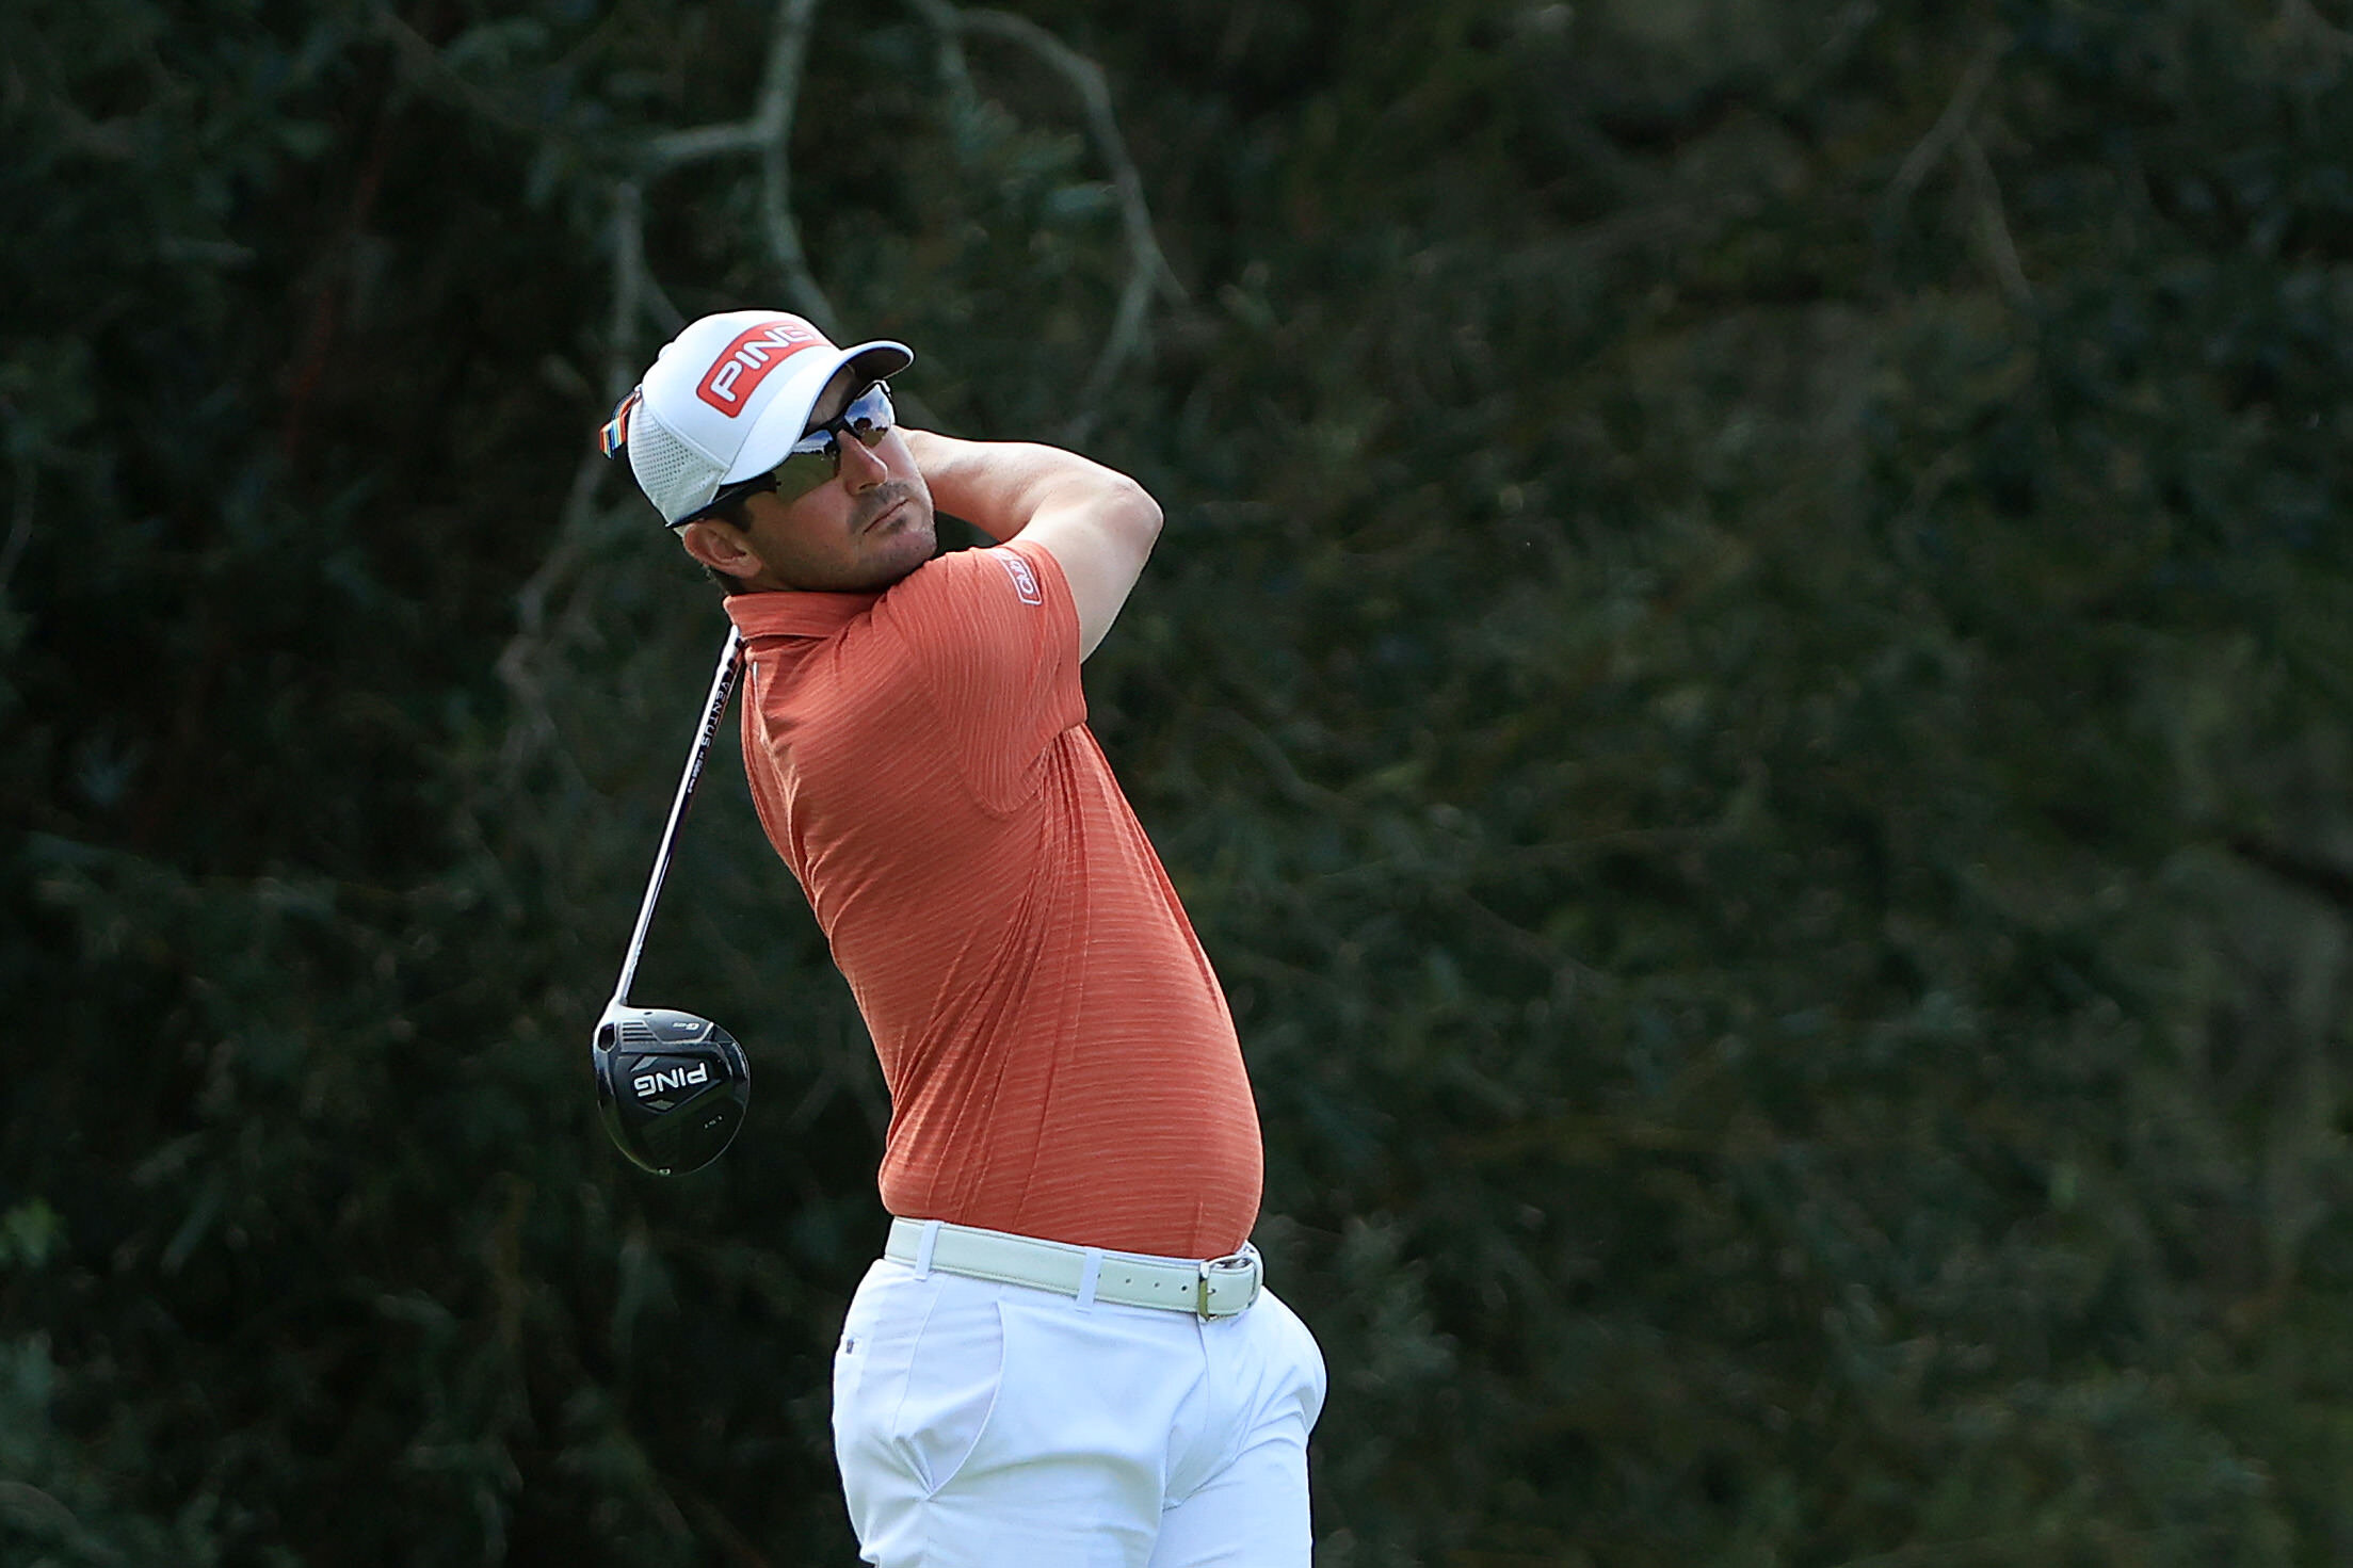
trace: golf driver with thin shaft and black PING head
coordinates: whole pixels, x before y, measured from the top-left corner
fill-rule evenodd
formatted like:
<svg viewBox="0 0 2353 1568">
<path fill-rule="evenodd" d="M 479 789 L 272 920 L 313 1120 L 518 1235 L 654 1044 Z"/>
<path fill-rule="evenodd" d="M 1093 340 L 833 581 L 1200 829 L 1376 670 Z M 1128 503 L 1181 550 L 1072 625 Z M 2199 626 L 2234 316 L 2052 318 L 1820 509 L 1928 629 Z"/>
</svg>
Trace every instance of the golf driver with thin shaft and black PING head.
<svg viewBox="0 0 2353 1568">
<path fill-rule="evenodd" d="M 711 677 L 711 696 L 704 701 L 704 722 L 694 731 L 694 750 L 687 752 L 687 773 L 678 780 L 678 799 L 671 802 L 671 823 L 661 830 L 654 877 L 645 884 L 645 903 L 638 905 L 638 929 L 628 933 L 621 980 L 612 987 L 612 1001 L 605 1004 L 588 1053 L 605 1131 L 624 1154 L 654 1175 L 701 1171 L 718 1159 L 744 1126 L 744 1105 L 751 1100 L 751 1065 L 734 1034 L 694 1013 L 628 1004 L 628 983 L 638 976 L 638 954 L 645 952 L 645 929 L 654 924 L 654 900 L 661 898 L 661 879 L 671 870 L 678 825 L 694 802 L 694 783 L 704 776 L 711 741 L 727 715 L 741 649 L 741 632 L 729 628 L 718 675 Z"/>
</svg>

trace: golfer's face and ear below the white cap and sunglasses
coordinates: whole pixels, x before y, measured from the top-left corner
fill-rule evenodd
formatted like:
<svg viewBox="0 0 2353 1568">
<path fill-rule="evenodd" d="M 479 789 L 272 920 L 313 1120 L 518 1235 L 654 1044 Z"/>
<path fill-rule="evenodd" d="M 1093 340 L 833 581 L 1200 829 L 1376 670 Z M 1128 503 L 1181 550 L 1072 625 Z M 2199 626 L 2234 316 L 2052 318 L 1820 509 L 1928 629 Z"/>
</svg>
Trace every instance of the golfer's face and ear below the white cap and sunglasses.
<svg viewBox="0 0 2353 1568">
<path fill-rule="evenodd" d="M 840 402 L 828 388 L 816 416 L 831 416 Z M 906 437 L 892 428 L 873 447 L 847 435 L 838 447 L 842 465 L 828 482 L 793 501 L 746 496 L 744 529 L 692 522 L 682 529 L 687 552 L 751 590 L 824 592 L 880 592 L 932 559 L 932 487 Z M 699 531 L 706 534 L 696 538 Z"/>
</svg>

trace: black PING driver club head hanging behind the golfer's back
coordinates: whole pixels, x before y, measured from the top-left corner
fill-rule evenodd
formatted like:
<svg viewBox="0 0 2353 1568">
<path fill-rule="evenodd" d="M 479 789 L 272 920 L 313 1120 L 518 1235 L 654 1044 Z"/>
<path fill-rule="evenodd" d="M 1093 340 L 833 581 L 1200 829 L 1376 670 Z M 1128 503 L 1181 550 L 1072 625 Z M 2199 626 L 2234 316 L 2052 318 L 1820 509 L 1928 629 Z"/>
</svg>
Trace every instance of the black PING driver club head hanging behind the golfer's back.
<svg viewBox="0 0 2353 1568">
<path fill-rule="evenodd" d="M 744 1126 L 751 1065 L 708 1018 L 614 1001 L 595 1025 L 591 1063 L 605 1131 L 654 1175 L 701 1171 Z"/>
</svg>

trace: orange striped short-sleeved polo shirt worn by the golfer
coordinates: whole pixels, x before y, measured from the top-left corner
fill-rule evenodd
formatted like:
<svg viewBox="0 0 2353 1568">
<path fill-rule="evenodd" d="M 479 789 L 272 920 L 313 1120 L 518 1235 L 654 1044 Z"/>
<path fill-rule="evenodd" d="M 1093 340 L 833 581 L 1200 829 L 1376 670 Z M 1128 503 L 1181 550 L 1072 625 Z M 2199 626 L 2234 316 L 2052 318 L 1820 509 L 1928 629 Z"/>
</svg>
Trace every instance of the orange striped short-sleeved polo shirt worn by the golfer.
<svg viewBox="0 0 2353 1568">
<path fill-rule="evenodd" d="M 1259 1215 L 1233 1016 L 1087 731 L 1019 538 L 880 595 L 746 592 L 744 769 L 889 1084 L 894 1215 L 1174 1258 Z"/>
</svg>

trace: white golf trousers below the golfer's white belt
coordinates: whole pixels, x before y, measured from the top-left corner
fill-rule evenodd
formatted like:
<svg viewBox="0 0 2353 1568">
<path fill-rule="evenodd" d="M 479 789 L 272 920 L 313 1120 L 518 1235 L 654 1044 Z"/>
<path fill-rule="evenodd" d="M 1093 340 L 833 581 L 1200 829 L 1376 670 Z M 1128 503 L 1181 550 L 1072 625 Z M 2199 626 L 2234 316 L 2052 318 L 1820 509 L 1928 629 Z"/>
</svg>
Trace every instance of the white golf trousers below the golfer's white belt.
<svg viewBox="0 0 2353 1568">
<path fill-rule="evenodd" d="M 833 1453 L 880 1568 L 1306 1568 L 1322 1352 L 1228 1319 L 875 1262 L 833 1356 Z"/>
</svg>

